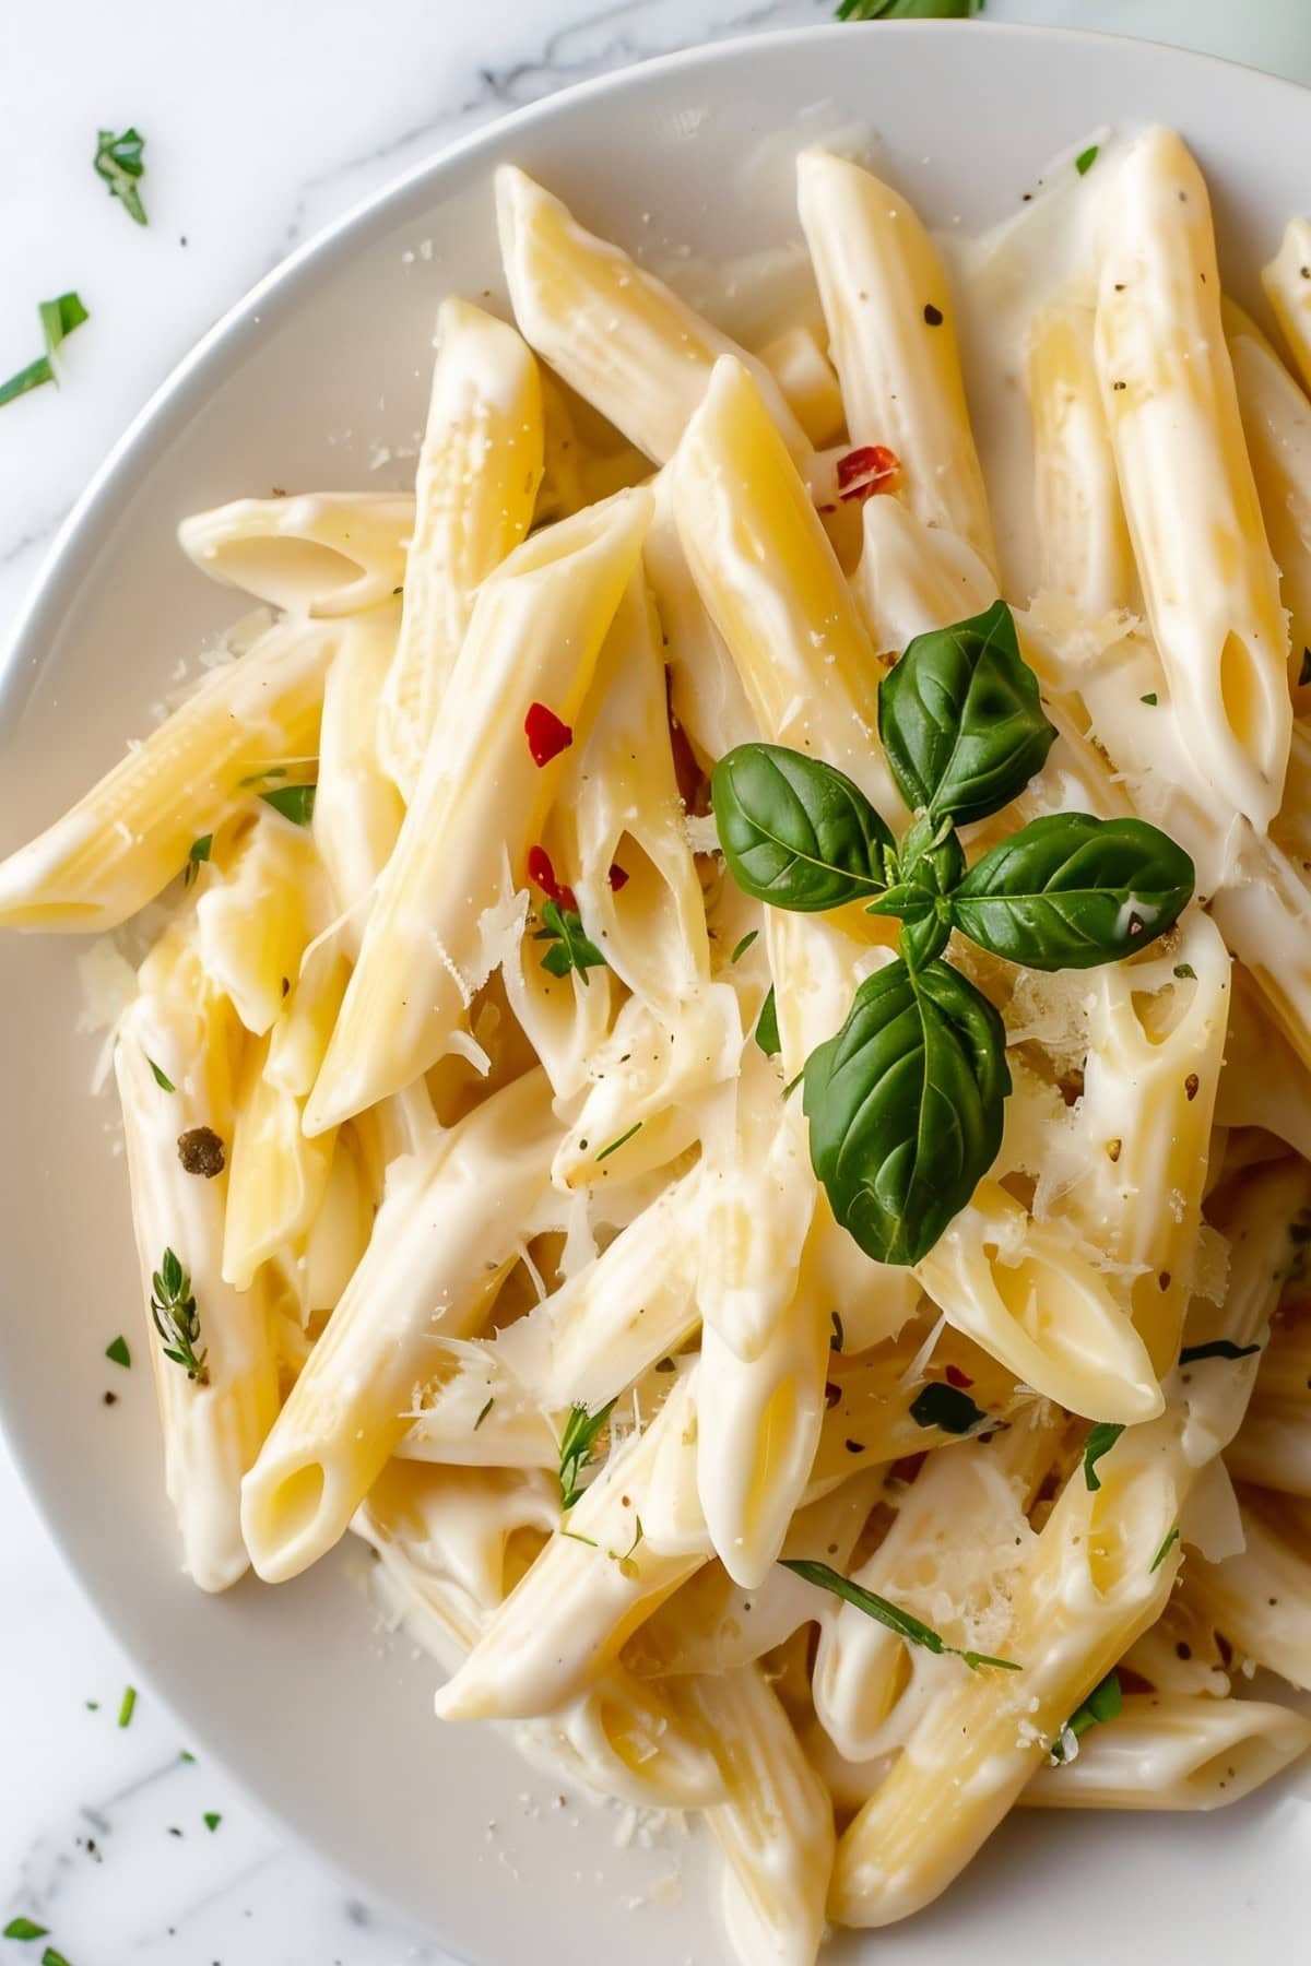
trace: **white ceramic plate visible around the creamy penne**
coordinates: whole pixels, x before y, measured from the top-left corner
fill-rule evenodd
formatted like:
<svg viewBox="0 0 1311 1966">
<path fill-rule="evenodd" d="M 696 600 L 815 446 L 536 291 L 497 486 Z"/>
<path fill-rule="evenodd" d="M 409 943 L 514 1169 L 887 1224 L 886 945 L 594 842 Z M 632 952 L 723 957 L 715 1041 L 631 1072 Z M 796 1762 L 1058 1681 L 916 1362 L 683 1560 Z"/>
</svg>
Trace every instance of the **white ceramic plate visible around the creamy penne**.
<svg viewBox="0 0 1311 1966">
<path fill-rule="evenodd" d="M 175 550 L 183 513 L 273 486 L 405 482 L 405 464 L 370 472 L 370 458 L 405 450 L 423 423 L 438 299 L 503 301 L 497 161 L 629 248 L 713 260 L 796 236 L 778 132 L 869 124 L 932 222 L 977 226 L 1014 210 L 1075 138 L 1162 120 L 1199 151 L 1228 281 L 1252 303 L 1283 216 L 1307 204 L 1309 110 L 1287 83 L 1140 41 L 826 24 L 629 69 L 476 136 L 265 281 L 88 488 L 2 678 L 0 847 L 81 792 L 145 727 L 177 657 L 240 611 Z M 772 169 L 743 173 L 765 140 Z M 594 1958 L 712 1966 L 700 1850 L 623 1852 L 607 1811 L 539 1817 L 556 1783 L 484 1728 L 436 1726 L 432 1669 L 379 1634 L 360 1557 L 224 1598 L 179 1575 L 149 1374 L 100 1406 L 104 1345 L 138 1329 L 140 1301 L 112 1107 L 86 1097 L 94 1040 L 75 1036 L 75 955 L 63 938 L 0 944 L 4 1417 L 69 1561 L 185 1736 L 458 1954 L 560 1966 L 586 1935 Z M 1305 1809 L 1285 1787 L 1215 1817 L 1020 1815 L 945 1903 L 833 1958 L 1000 1966 L 1034 1946 L 1061 1966 L 1138 1966 L 1252 1940 L 1305 1956 Z M 625 1909 L 672 1862 L 682 1903 Z"/>
</svg>

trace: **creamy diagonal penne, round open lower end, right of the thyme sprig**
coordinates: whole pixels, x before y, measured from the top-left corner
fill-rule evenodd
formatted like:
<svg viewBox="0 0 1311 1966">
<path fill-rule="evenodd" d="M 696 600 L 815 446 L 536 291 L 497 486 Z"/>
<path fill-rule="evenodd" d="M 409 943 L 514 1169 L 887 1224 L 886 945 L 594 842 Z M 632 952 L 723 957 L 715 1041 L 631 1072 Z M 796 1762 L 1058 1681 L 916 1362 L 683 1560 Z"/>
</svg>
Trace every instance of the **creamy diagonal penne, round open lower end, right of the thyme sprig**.
<svg viewBox="0 0 1311 1966">
<path fill-rule="evenodd" d="M 529 1073 L 401 1160 L 370 1246 L 246 1476 L 242 1528 L 265 1583 L 330 1549 L 409 1431 L 430 1341 L 472 1337 L 550 1180 L 550 1087 Z"/>
</svg>

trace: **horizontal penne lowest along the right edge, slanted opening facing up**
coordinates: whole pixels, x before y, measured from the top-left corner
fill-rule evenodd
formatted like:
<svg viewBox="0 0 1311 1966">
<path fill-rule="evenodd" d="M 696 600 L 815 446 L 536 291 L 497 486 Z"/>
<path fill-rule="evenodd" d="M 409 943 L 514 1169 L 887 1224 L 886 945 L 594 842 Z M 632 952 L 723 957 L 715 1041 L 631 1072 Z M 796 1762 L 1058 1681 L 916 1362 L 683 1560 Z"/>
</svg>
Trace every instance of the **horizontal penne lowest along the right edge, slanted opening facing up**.
<svg viewBox="0 0 1311 1966">
<path fill-rule="evenodd" d="M 1311 1748 L 1311 1720 L 1268 1701 L 1130 1693 L 1079 1754 L 1040 1767 L 1026 1809 L 1225 1809 Z"/>
</svg>

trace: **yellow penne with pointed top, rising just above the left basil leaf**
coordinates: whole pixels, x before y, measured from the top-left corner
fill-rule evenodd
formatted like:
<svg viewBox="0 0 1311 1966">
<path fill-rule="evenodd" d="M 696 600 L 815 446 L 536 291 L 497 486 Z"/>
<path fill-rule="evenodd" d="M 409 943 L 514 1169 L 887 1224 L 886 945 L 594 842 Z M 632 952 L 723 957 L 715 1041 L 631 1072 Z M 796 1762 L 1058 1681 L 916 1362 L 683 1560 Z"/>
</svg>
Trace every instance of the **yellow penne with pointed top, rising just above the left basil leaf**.
<svg viewBox="0 0 1311 1966">
<path fill-rule="evenodd" d="M 837 765 L 896 820 L 869 637 L 765 399 L 729 358 L 678 448 L 674 513 L 761 733 Z"/>
</svg>

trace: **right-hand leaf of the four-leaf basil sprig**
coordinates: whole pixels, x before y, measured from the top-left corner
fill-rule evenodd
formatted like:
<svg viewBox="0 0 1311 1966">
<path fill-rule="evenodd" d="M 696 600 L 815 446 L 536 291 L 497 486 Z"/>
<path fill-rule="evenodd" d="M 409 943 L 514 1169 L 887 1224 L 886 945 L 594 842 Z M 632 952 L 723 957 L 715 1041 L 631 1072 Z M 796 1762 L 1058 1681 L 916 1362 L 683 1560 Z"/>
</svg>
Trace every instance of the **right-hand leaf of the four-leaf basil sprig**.
<svg viewBox="0 0 1311 1966">
<path fill-rule="evenodd" d="M 969 869 L 951 918 L 1028 969 L 1093 969 L 1146 950 L 1191 896 L 1193 863 L 1156 826 L 1055 812 Z"/>
</svg>

